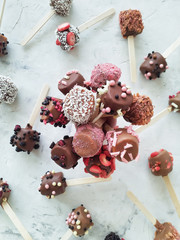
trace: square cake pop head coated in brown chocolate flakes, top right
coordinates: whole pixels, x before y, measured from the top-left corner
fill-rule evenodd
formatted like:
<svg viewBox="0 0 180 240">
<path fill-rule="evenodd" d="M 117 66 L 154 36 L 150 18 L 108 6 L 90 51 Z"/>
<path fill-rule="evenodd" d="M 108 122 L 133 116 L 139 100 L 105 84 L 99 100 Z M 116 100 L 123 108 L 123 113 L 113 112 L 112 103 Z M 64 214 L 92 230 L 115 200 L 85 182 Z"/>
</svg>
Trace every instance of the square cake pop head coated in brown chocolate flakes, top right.
<svg viewBox="0 0 180 240">
<path fill-rule="evenodd" d="M 119 14 L 119 24 L 124 38 L 136 36 L 142 33 L 144 26 L 141 12 L 138 10 L 121 11 Z"/>
</svg>

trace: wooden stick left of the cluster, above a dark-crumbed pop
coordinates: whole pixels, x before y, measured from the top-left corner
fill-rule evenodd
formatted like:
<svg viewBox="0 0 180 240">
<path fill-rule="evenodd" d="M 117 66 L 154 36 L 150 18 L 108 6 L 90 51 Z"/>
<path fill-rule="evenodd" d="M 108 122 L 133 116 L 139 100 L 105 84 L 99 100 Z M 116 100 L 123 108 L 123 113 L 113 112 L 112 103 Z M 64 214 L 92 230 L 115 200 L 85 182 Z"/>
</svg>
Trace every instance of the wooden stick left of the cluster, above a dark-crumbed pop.
<svg viewBox="0 0 180 240">
<path fill-rule="evenodd" d="M 37 118 L 38 113 L 40 112 L 41 104 L 42 104 L 44 98 L 46 97 L 48 91 L 49 91 L 49 85 L 45 84 L 44 87 L 41 90 L 39 98 L 38 98 L 38 100 L 37 100 L 37 102 L 36 102 L 36 104 L 34 106 L 34 109 L 33 109 L 32 113 L 31 113 L 31 116 L 30 116 L 29 121 L 28 121 L 28 123 L 32 127 L 34 125 L 34 122 L 35 122 L 35 120 Z"/>
</svg>

